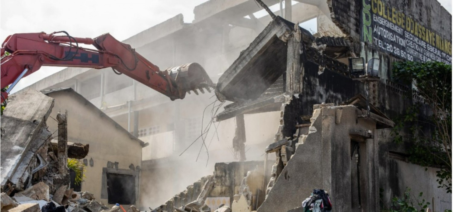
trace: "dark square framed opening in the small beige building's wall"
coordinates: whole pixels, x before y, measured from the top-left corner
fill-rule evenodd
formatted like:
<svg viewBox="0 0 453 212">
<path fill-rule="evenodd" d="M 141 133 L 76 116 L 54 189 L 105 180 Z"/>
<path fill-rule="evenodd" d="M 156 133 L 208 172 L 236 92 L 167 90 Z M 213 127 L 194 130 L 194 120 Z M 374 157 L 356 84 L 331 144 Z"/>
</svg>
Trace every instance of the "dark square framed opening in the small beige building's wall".
<svg viewBox="0 0 453 212">
<path fill-rule="evenodd" d="M 109 204 L 135 204 L 135 175 L 107 172 L 107 194 Z"/>
</svg>

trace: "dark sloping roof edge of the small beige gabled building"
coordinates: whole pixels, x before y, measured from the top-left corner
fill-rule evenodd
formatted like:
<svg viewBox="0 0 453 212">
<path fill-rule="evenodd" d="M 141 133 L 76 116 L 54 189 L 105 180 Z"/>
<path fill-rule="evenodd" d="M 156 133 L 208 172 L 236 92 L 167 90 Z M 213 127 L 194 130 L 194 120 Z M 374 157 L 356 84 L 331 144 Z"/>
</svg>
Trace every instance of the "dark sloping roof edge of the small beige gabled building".
<svg viewBox="0 0 453 212">
<path fill-rule="evenodd" d="M 103 111 L 101 111 L 99 108 L 97 108 L 95 105 L 93 105 L 90 101 L 88 101 L 85 97 L 83 97 L 82 95 L 80 95 L 79 93 L 77 93 L 76 91 L 74 91 L 72 88 L 58 88 L 58 89 L 51 89 L 51 90 L 43 90 L 43 91 L 40 91 L 42 92 L 43 94 L 47 95 L 50 94 L 50 93 L 54 93 L 54 92 L 70 92 L 72 94 L 74 94 L 76 97 L 78 97 L 79 100 L 81 100 L 86 106 L 89 106 L 91 107 L 93 110 L 97 111 L 100 113 L 101 117 L 105 117 L 106 120 L 108 120 L 111 124 L 114 125 L 115 128 L 117 129 L 120 129 L 120 131 L 122 131 L 123 133 L 129 135 L 129 138 L 140 143 L 140 146 L 141 147 L 146 147 L 149 145 L 149 143 L 145 143 L 143 142 L 142 140 L 140 140 L 139 138 L 135 137 L 134 135 L 130 134 L 129 131 L 127 131 L 126 129 L 124 129 L 120 124 L 118 124 L 115 120 L 111 119 L 110 116 L 108 116 L 107 114 L 105 114 Z"/>
</svg>

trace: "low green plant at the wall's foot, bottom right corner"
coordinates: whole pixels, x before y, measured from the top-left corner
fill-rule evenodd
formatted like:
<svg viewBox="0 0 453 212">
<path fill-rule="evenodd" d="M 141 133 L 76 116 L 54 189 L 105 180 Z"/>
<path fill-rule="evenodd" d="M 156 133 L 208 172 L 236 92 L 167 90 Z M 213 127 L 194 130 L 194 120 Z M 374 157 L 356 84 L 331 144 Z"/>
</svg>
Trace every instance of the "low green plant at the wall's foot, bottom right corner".
<svg viewBox="0 0 453 212">
<path fill-rule="evenodd" d="M 381 210 L 381 212 L 426 212 L 426 209 L 430 207 L 431 203 L 422 197 L 423 192 L 420 192 L 418 198 L 414 198 L 408 188 L 402 197 L 392 199 L 390 208 L 387 207 L 385 210 Z M 422 198 L 421 201 L 419 201 L 420 198 Z M 445 210 L 444 212 L 451 212 L 451 210 Z"/>
</svg>

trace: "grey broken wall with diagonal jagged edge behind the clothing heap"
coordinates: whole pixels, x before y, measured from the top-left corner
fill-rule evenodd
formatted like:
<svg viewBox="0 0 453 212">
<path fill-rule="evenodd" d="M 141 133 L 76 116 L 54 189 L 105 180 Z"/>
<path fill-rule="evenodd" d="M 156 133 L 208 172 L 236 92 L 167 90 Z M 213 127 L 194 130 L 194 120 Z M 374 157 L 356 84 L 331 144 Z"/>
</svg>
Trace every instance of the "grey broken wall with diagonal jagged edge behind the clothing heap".
<svg viewBox="0 0 453 212">
<path fill-rule="evenodd" d="M 338 110 L 342 111 L 336 117 Z M 341 120 L 337 120 L 341 119 Z M 313 189 L 325 189 L 331 195 L 335 211 L 352 211 L 351 136 L 352 131 L 374 132 L 376 122 L 358 119 L 355 106 L 336 106 L 316 109 L 308 135 L 299 138 L 296 152 L 282 170 L 258 212 L 288 211 L 299 207 Z M 358 122 L 356 122 L 356 120 Z M 339 123 L 336 123 L 339 122 Z M 377 143 L 366 143 L 368 175 L 362 184 L 362 207 L 378 211 Z"/>
</svg>

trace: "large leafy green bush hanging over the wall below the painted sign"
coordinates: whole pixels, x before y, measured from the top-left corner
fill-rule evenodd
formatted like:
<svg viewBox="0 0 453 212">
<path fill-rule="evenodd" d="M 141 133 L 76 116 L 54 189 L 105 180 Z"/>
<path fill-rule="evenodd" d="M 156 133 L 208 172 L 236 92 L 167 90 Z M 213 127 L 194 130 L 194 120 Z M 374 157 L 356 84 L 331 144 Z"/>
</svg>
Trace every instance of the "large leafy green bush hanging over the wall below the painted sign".
<svg viewBox="0 0 453 212">
<path fill-rule="evenodd" d="M 451 193 L 452 66 L 435 61 L 403 61 L 396 62 L 392 71 L 395 80 L 416 87 L 407 97 L 423 99 L 423 103 L 406 108 L 405 114 L 395 119 L 394 141 L 401 143 L 410 138 L 413 145 L 409 160 L 425 167 L 439 167 L 439 188 Z M 426 106 L 429 111 L 421 111 Z"/>
</svg>

